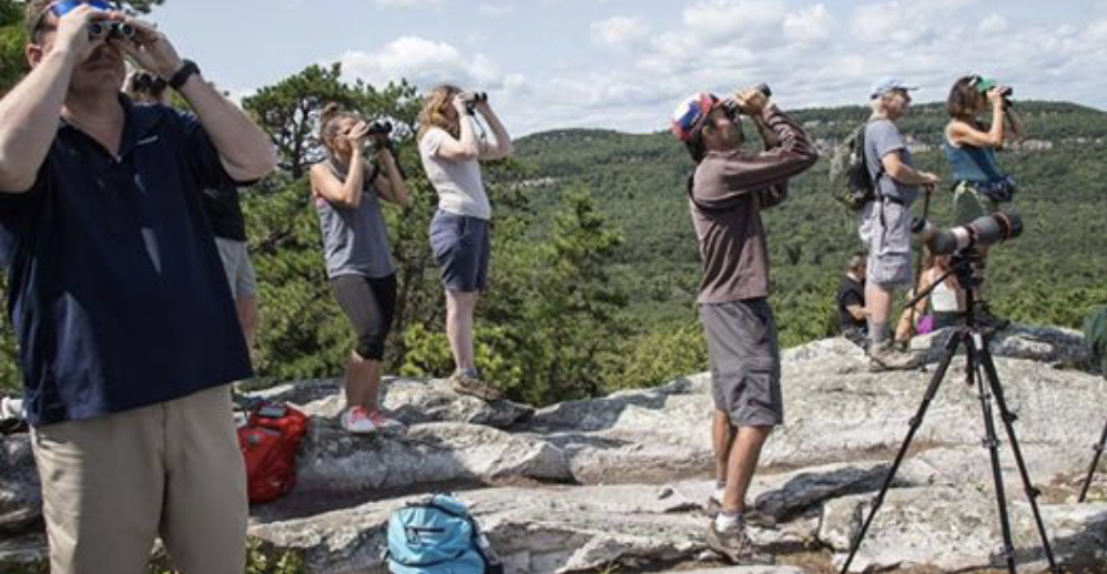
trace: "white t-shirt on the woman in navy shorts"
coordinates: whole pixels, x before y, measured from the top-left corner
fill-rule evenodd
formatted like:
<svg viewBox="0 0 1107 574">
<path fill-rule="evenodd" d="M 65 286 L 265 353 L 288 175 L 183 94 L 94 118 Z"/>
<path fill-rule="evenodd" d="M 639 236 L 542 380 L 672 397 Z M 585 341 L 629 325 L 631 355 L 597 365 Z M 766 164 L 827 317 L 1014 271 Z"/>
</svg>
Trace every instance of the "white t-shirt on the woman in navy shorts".
<svg viewBox="0 0 1107 574">
<path fill-rule="evenodd" d="M 463 121 L 471 121 L 464 119 Z M 450 137 L 445 130 L 431 127 L 419 140 L 419 157 L 430 185 L 438 192 L 438 208 L 457 215 L 491 219 L 492 208 L 480 181 L 477 160 L 454 161 L 438 155 L 443 142 Z"/>
</svg>

